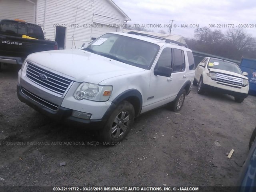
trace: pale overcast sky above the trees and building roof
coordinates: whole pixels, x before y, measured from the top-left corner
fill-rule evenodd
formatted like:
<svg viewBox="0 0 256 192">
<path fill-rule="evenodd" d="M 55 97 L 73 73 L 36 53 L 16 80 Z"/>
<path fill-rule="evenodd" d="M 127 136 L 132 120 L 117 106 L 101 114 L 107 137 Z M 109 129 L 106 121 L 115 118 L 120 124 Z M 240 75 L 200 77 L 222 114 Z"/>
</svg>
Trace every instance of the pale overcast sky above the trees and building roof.
<svg viewBox="0 0 256 192">
<path fill-rule="evenodd" d="M 254 0 L 114 0 L 131 18 L 128 24 L 170 24 L 172 34 L 192 38 L 196 28 L 181 28 L 182 24 L 254 24 L 245 31 L 256 37 L 256 1 Z M 174 28 L 176 24 L 176 28 Z M 149 28 L 158 32 L 159 28 Z M 168 32 L 167 28 L 162 28 Z M 220 29 L 223 32 L 227 28 Z"/>
</svg>

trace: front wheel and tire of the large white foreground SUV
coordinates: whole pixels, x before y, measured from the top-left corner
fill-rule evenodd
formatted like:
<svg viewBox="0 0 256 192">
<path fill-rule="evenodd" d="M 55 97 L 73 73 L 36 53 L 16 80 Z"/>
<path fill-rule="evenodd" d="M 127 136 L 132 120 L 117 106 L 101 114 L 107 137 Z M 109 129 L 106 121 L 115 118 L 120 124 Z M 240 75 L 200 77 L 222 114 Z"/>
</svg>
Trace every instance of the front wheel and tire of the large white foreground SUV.
<svg viewBox="0 0 256 192">
<path fill-rule="evenodd" d="M 116 142 L 120 142 L 125 138 L 133 122 L 134 107 L 128 101 L 121 102 L 108 118 L 104 128 L 100 130 L 100 140 L 108 142 L 108 145 L 115 145 Z"/>
</svg>

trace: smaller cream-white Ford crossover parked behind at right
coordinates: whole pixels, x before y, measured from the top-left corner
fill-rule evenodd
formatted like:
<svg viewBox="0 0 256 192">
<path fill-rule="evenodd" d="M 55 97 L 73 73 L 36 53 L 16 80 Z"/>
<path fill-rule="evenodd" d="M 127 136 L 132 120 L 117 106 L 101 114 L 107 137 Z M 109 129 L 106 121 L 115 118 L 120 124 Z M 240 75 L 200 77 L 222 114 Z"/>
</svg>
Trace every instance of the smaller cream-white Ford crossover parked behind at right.
<svg viewBox="0 0 256 192">
<path fill-rule="evenodd" d="M 199 94 L 206 89 L 234 96 L 242 103 L 248 96 L 248 74 L 240 70 L 237 64 L 217 58 L 204 58 L 196 67 L 193 85 L 198 83 Z"/>
</svg>

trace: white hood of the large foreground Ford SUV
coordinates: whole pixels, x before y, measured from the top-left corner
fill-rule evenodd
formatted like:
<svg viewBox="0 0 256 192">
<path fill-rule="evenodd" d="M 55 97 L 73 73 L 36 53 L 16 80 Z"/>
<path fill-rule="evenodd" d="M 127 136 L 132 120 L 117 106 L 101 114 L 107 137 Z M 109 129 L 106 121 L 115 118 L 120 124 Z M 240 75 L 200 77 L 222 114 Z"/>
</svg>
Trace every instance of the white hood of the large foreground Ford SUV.
<svg viewBox="0 0 256 192">
<path fill-rule="evenodd" d="M 81 49 L 33 53 L 27 60 L 74 77 L 76 82 L 95 84 L 115 76 L 144 71 L 142 68 Z"/>
</svg>

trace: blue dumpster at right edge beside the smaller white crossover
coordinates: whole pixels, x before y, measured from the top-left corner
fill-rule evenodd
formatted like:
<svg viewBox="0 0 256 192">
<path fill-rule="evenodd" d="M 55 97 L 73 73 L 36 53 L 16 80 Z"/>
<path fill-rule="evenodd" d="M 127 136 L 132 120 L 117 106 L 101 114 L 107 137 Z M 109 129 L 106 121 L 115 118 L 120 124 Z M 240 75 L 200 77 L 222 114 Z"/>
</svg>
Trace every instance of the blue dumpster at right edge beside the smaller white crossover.
<svg viewBox="0 0 256 192">
<path fill-rule="evenodd" d="M 249 94 L 256 95 L 256 59 L 242 58 L 240 69 L 248 73 Z"/>
</svg>

